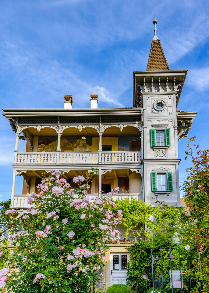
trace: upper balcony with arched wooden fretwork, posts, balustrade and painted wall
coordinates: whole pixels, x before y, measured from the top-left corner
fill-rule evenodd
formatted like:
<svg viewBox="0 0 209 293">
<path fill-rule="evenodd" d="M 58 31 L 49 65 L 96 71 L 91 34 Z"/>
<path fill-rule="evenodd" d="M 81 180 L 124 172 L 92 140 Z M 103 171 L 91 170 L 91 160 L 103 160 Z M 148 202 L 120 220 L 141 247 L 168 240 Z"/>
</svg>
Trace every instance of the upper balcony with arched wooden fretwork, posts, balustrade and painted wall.
<svg viewBox="0 0 209 293">
<path fill-rule="evenodd" d="M 59 128 L 53 125 L 19 126 L 16 145 L 19 138 L 27 140 L 27 145 L 24 153 L 16 147 L 14 165 L 139 164 L 140 128 L 140 123 L 103 125 L 102 128 L 75 124 Z"/>
</svg>

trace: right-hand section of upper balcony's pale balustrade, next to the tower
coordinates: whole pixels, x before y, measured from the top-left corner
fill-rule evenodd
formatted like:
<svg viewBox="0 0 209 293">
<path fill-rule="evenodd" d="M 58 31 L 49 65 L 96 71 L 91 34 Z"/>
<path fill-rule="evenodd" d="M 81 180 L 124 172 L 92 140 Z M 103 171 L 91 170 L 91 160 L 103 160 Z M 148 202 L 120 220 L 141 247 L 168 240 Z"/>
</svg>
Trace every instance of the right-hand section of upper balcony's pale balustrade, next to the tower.
<svg viewBox="0 0 209 293">
<path fill-rule="evenodd" d="M 102 152 L 102 163 L 139 163 L 141 161 L 140 151 Z"/>
</svg>

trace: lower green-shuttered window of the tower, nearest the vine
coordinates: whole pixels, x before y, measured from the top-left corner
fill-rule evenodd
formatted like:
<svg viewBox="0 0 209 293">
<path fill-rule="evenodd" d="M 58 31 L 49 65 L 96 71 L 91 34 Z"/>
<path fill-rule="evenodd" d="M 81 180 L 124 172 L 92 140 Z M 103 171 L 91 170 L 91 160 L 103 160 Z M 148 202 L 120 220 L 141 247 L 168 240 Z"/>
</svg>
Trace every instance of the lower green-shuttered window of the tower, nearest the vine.
<svg viewBox="0 0 209 293">
<path fill-rule="evenodd" d="M 151 190 L 152 191 L 172 191 L 173 190 L 172 172 L 167 172 L 167 173 L 151 172 Z"/>
</svg>

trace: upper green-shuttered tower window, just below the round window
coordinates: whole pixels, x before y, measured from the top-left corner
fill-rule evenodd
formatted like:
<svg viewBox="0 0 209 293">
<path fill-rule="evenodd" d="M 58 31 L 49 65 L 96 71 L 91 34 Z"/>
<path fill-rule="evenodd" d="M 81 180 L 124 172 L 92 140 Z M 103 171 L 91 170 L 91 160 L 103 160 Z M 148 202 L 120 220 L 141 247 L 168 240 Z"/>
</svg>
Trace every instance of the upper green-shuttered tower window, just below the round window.
<svg viewBox="0 0 209 293">
<path fill-rule="evenodd" d="M 155 130 L 151 128 L 150 141 L 151 141 L 151 147 L 170 146 L 171 145 L 170 128 L 166 128 L 165 130 Z"/>
</svg>

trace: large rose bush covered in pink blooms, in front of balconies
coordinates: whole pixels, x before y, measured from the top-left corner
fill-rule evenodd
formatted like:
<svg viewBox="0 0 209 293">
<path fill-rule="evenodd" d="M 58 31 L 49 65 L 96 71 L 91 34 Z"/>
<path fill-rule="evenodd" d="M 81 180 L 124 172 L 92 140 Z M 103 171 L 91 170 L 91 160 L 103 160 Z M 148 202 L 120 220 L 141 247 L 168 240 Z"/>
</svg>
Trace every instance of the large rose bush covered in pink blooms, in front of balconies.
<svg viewBox="0 0 209 293">
<path fill-rule="evenodd" d="M 19 246 L 9 264 L 13 273 L 8 289 L 87 293 L 100 280 L 107 243 L 120 240 L 116 226 L 122 223 L 122 211 L 110 209 L 117 208 L 113 197 L 118 188 L 108 196 L 88 197 L 95 174 L 91 169 L 86 177 L 76 176 L 75 190 L 60 178 L 62 172 L 52 170 L 37 186 L 39 194 L 28 196 L 31 208 L 26 213 L 17 216 L 8 210 L 13 227 L 8 241 Z"/>
</svg>

